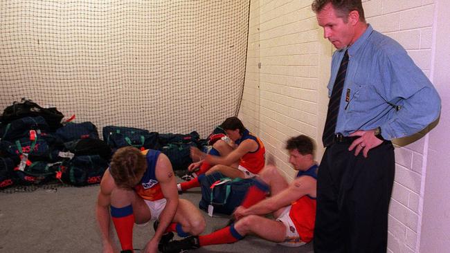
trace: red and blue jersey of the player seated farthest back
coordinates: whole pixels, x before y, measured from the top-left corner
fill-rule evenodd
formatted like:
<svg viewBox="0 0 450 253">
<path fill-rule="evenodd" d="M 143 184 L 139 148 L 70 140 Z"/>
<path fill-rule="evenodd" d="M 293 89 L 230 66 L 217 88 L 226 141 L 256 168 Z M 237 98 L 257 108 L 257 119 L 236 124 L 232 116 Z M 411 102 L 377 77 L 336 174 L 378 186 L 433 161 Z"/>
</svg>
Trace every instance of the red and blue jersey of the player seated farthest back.
<svg viewBox="0 0 450 253">
<path fill-rule="evenodd" d="M 239 140 L 236 140 L 235 143 L 239 145 L 244 140 L 254 140 L 258 143 L 258 149 L 242 156 L 239 165 L 253 174 L 258 174 L 262 168 L 264 168 L 266 148 L 264 147 L 264 144 L 262 144 L 262 141 L 250 133 L 249 130 L 245 130 L 244 133 L 242 133 L 242 137 Z"/>
</svg>

